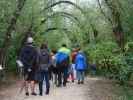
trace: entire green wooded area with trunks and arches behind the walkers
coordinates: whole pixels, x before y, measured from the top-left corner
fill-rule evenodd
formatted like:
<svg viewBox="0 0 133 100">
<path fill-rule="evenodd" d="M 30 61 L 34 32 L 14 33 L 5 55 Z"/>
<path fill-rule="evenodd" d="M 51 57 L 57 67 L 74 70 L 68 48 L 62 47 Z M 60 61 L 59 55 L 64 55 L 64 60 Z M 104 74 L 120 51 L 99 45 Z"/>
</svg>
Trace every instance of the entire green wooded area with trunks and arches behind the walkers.
<svg viewBox="0 0 133 100">
<path fill-rule="evenodd" d="M 51 49 L 80 45 L 97 74 L 125 83 L 133 73 L 132 9 L 132 0 L 0 0 L 0 64 L 15 70 L 32 36 Z"/>
</svg>

